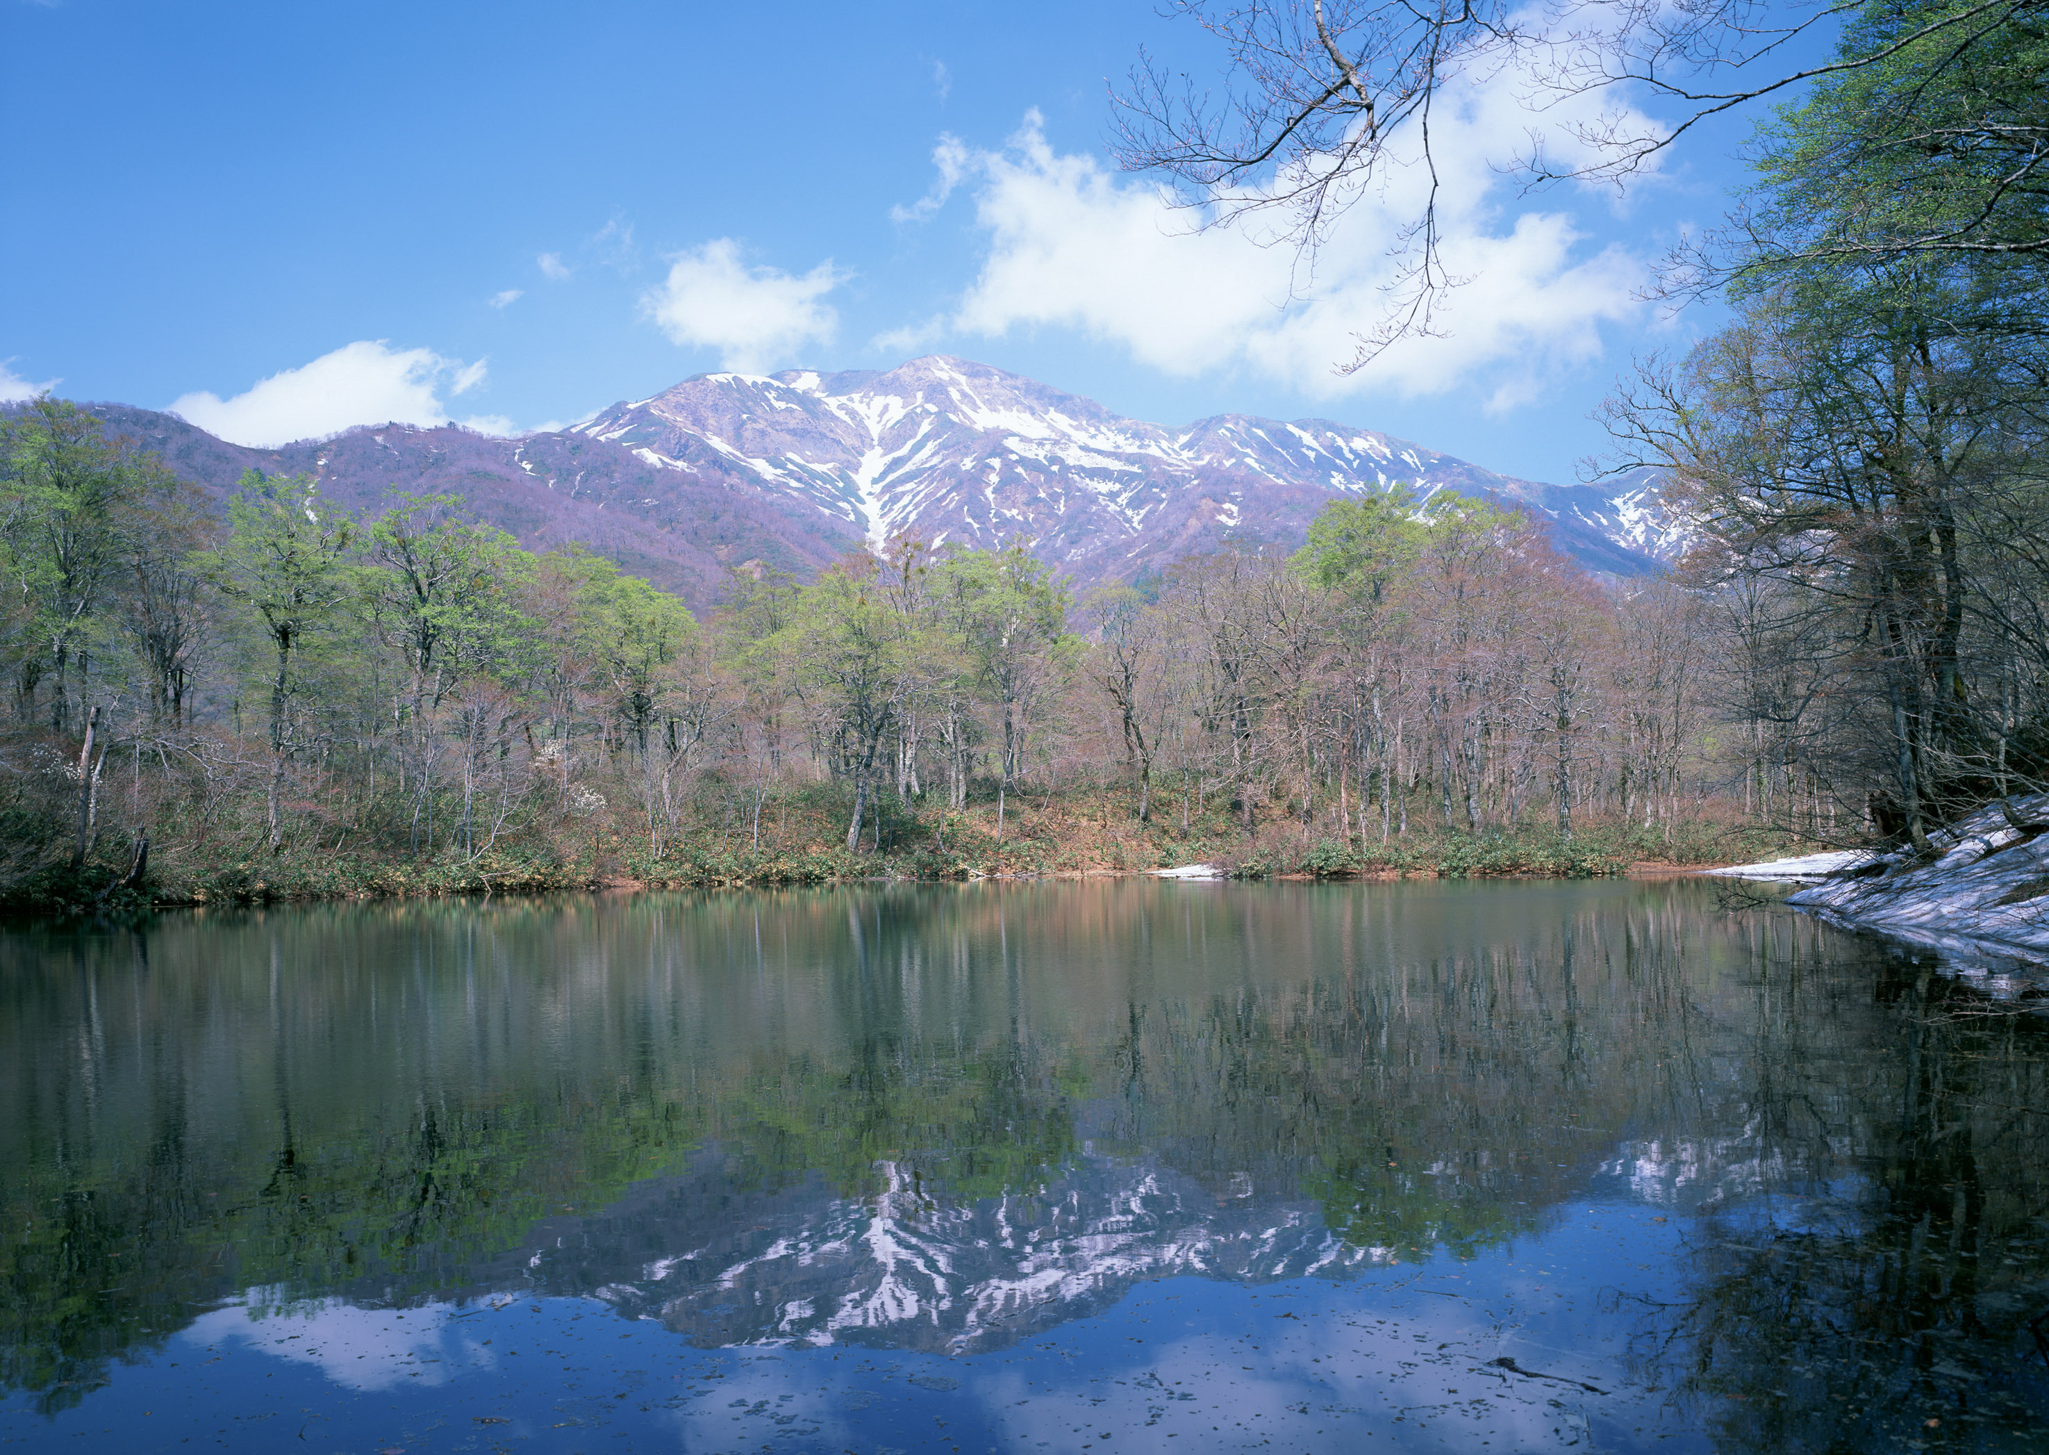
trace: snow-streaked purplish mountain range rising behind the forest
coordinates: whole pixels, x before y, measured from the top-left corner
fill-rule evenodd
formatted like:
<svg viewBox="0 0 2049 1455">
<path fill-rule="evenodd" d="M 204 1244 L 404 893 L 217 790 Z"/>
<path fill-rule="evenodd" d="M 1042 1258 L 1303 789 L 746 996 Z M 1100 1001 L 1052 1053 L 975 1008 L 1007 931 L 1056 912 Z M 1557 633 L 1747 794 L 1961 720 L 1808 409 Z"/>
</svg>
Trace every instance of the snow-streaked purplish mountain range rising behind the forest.
<svg viewBox="0 0 2049 1455">
<path fill-rule="evenodd" d="M 172 414 L 92 410 L 213 492 L 256 467 L 313 473 L 352 510 L 457 494 L 522 545 L 580 541 L 695 607 L 734 566 L 809 576 L 906 533 L 1024 537 L 1086 588 L 1229 539 L 1293 549 L 1332 496 L 1395 484 L 1529 510 L 1561 549 L 1621 576 L 1686 543 L 1651 471 L 1547 486 L 1332 420 L 1221 414 L 1172 430 L 945 355 L 881 373 L 707 373 L 522 439 L 389 424 L 244 449 Z"/>
</svg>

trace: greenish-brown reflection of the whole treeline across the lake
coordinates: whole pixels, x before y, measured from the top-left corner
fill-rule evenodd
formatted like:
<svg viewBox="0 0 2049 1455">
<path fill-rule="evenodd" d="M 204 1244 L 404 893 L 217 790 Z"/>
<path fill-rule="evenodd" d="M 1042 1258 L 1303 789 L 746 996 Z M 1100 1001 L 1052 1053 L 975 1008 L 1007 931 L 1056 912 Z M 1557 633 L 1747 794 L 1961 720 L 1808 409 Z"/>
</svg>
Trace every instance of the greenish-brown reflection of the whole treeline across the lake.
<svg viewBox="0 0 2049 1455">
<path fill-rule="evenodd" d="M 1535 1228 L 1619 1144 L 1684 1160 L 1709 1209 L 1836 1189 L 1867 1221 L 1727 1232 L 1645 1357 L 1744 1394 L 1719 1381 L 1834 1379 L 1799 1340 L 1879 1320 L 1940 1383 L 1959 1299 L 1983 1338 L 2039 1312 L 2045 1250 L 2012 1242 L 2043 1209 L 2039 1119 L 1985 1107 L 2049 1105 L 2041 1047 L 1959 1021 L 1945 982 L 1893 969 L 1873 998 L 1863 953 L 1664 885 L 658 896 L 4 941 L 0 1381 L 72 1400 L 252 1287 L 471 1289 L 697 1148 L 734 1189 L 873 1197 L 887 1166 L 945 1207 L 1033 1193 L 1086 1135 L 1219 1205 L 1315 1199 L 1387 1258 Z M 1930 1254 L 1959 1219 L 2016 1258 L 1969 1295 L 1963 1254 Z"/>
</svg>

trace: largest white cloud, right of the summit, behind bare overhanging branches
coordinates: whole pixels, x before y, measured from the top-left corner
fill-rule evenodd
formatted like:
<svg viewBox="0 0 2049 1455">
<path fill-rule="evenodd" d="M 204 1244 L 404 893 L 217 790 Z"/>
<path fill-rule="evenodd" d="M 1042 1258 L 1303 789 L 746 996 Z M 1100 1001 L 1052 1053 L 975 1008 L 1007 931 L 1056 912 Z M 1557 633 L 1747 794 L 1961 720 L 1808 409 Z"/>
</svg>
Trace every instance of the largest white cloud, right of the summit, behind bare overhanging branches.
<svg viewBox="0 0 2049 1455">
<path fill-rule="evenodd" d="M 1397 340 L 1352 375 L 1332 365 L 1385 316 L 1399 281 L 1389 254 L 1426 197 L 1428 172 L 1414 156 L 1352 203 L 1305 268 L 1258 215 L 1205 232 L 1158 186 L 1053 152 L 1037 113 L 996 152 L 940 137 L 932 191 L 891 215 L 922 221 L 971 186 L 988 256 L 951 314 L 875 342 L 1072 328 L 1170 375 L 1240 367 L 1324 398 L 1477 387 L 1488 408 L 1524 404 L 1561 369 L 1600 357 L 1602 324 L 1641 311 L 1633 293 L 1647 266 L 1621 246 L 1588 248 L 1565 209 L 1508 205 L 1512 182 L 1496 162 L 1531 121 L 1516 94 L 1496 80 L 1438 100 L 1440 256 L 1469 281 L 1438 311 L 1442 336 Z M 1549 117 L 1559 127 L 1553 162 L 1572 148 L 1563 127 L 1574 119 Z"/>
</svg>

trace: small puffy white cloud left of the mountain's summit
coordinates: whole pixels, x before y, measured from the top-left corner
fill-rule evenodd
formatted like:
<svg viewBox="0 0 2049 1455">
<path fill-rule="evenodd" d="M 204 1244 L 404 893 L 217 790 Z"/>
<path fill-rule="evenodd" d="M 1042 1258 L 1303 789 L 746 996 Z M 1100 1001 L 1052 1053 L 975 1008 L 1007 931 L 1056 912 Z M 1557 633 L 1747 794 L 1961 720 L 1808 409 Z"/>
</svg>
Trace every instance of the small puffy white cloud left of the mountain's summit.
<svg viewBox="0 0 2049 1455">
<path fill-rule="evenodd" d="M 840 318 L 822 299 L 844 281 L 832 262 L 803 277 L 750 268 L 738 242 L 715 238 L 670 258 L 668 279 L 641 295 L 641 309 L 670 342 L 717 348 L 725 369 L 760 373 L 832 338 Z"/>
</svg>

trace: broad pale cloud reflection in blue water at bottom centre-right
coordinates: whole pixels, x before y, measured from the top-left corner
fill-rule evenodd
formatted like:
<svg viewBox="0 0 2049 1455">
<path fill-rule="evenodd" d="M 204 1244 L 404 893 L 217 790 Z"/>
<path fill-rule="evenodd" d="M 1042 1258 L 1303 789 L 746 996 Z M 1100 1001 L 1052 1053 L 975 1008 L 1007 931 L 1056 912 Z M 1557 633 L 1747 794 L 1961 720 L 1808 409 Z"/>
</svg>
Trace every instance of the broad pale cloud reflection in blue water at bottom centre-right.
<svg viewBox="0 0 2049 1455">
<path fill-rule="evenodd" d="M 1088 1330 L 1053 1357 L 889 1361 L 822 1367 L 818 1353 L 748 1359 L 668 1416 L 688 1449 L 797 1441 L 867 1449 L 940 1418 L 951 1432 L 981 1422 L 998 1449 L 1072 1451 L 1104 1435 L 1117 1449 L 1211 1449 L 1268 1439 L 1336 1453 L 1373 1437 L 1385 1449 L 1559 1449 L 1641 1396 L 1608 1367 L 1537 1353 L 1477 1303 L 1367 1316 L 1266 1299 L 1236 1322 L 1240 1336 L 1170 1336 L 1117 1348 L 1129 1322 Z M 1094 1338 L 1106 1344 L 1094 1344 Z M 1260 1346 L 1254 1348 L 1250 1340 Z M 1090 1346 L 1094 1344 L 1094 1346 Z M 1611 1396 L 1486 1369 L 1500 1353 L 1549 1371 L 1604 1377 Z M 822 1377 L 824 1375 L 824 1377 Z M 1615 1408 L 1604 1408 L 1613 1404 Z M 865 1414 L 869 1412 L 869 1414 Z M 1639 1416 L 1641 1418 L 1641 1416 Z M 1174 1443 L 1168 1443 L 1168 1441 Z"/>
</svg>

